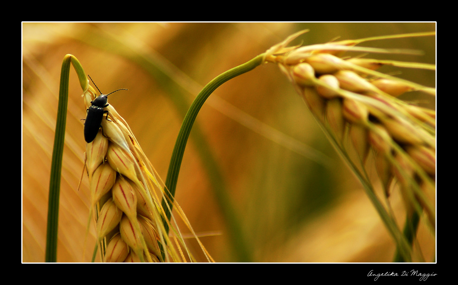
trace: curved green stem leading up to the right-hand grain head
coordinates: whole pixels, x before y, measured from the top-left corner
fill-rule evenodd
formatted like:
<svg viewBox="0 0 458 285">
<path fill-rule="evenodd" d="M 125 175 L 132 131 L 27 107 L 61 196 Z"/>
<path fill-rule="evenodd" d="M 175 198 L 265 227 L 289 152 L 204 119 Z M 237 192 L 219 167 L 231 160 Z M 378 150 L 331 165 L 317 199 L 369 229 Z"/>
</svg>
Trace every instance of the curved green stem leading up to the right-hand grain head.
<svg viewBox="0 0 458 285">
<path fill-rule="evenodd" d="M 169 201 L 171 202 L 170 210 L 173 206 L 173 197 L 175 196 L 175 190 L 177 187 L 178 174 L 180 173 L 180 166 L 181 161 L 183 159 L 183 153 L 186 148 L 186 143 L 189 137 L 189 133 L 191 132 L 192 125 L 194 124 L 195 118 L 197 117 L 197 113 L 204 105 L 205 101 L 210 96 L 210 94 L 212 94 L 213 91 L 215 91 L 222 83 L 261 65 L 263 63 L 263 59 L 264 54 L 260 54 L 256 56 L 254 59 L 218 75 L 212 81 L 210 81 L 204 87 L 204 89 L 202 89 L 202 91 L 197 95 L 197 97 L 192 102 L 183 120 L 180 132 L 178 133 L 175 148 L 170 158 L 170 164 L 168 166 L 167 178 L 165 180 L 165 187 L 166 189 L 168 189 L 167 196 Z M 166 207 L 165 203 L 167 202 L 165 200 L 162 200 L 162 207 L 165 210 L 167 219 L 170 220 L 171 212 L 168 211 L 168 208 Z M 168 233 L 167 223 L 164 223 L 164 226 L 166 232 Z"/>
</svg>

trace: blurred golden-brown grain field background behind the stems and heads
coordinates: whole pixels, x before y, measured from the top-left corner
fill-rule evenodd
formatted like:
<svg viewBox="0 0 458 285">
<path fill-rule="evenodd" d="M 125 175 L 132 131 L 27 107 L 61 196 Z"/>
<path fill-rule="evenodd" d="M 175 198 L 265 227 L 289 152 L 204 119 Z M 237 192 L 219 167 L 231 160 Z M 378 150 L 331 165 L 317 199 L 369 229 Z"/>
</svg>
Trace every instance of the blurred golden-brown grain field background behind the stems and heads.
<svg viewBox="0 0 458 285">
<path fill-rule="evenodd" d="M 187 108 L 211 79 L 300 30 L 304 45 L 335 38 L 430 32 L 435 23 L 22 23 L 22 261 L 44 262 L 51 154 L 65 54 L 76 56 L 108 103 L 128 122 L 165 181 Z M 435 64 L 435 37 L 363 46 L 423 55 L 377 55 Z M 374 57 L 374 56 L 372 56 Z M 385 69 L 435 87 L 430 70 Z M 83 176 L 86 111 L 70 70 L 60 195 L 58 262 L 90 262 L 95 229 Z M 402 99 L 435 108 L 419 93 Z M 218 188 L 218 189 L 215 189 Z M 218 192 L 220 191 L 220 192 Z M 216 193 L 224 193 L 222 200 Z M 197 116 L 176 199 L 217 262 L 391 262 L 395 244 L 358 180 L 339 158 L 277 66 L 265 64 L 224 83 Z M 401 209 L 398 193 L 392 206 Z M 234 211 L 237 236 L 222 209 Z M 179 219 L 177 217 L 177 219 Z M 404 213 L 399 210 L 402 226 Z M 181 223 L 180 230 L 189 235 Z M 238 249 L 243 241 L 246 250 Z M 434 261 L 435 237 L 423 224 L 418 245 Z M 192 239 L 188 247 L 206 262 Z M 417 252 L 418 253 L 418 252 Z M 419 254 L 419 253 L 418 253 Z"/>
</svg>

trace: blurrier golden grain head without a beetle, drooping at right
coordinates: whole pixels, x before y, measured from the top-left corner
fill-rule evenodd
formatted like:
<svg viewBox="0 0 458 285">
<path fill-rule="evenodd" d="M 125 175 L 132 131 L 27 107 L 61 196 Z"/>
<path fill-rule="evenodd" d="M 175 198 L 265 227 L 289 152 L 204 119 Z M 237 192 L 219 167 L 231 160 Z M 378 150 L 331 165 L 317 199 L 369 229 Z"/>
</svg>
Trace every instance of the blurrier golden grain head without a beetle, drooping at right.
<svg viewBox="0 0 458 285">
<path fill-rule="evenodd" d="M 373 154 L 386 198 L 397 181 L 409 212 L 424 211 L 435 226 L 436 112 L 397 97 L 421 91 L 435 96 L 435 89 L 421 86 L 377 69 L 383 65 L 435 69 L 434 65 L 381 61 L 350 56 L 349 52 L 408 52 L 358 47 L 367 38 L 288 46 L 298 32 L 266 52 L 266 62 L 275 63 L 288 76 L 340 154 L 348 157 L 353 147 L 357 158 L 347 160 L 366 180 L 367 157 Z M 402 38 L 433 33 L 387 36 Z M 434 97 L 433 97 L 434 98 Z M 347 143 L 346 143 L 347 142 Z"/>
</svg>

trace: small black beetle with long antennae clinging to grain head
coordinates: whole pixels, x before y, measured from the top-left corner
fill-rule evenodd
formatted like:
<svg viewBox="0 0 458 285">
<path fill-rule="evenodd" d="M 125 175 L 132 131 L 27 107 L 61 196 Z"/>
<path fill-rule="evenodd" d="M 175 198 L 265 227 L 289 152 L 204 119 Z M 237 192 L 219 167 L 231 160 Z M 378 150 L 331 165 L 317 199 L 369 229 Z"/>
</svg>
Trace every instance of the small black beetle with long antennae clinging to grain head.
<svg viewBox="0 0 458 285">
<path fill-rule="evenodd" d="M 88 75 L 89 76 L 89 75 Z M 89 76 L 91 78 L 91 76 Z M 94 81 L 91 78 L 92 83 Z M 97 85 L 94 83 L 94 86 L 97 88 L 97 90 L 100 92 L 100 89 L 97 87 Z M 120 90 L 127 90 L 127 89 L 118 89 L 116 91 Z M 113 91 L 111 93 L 115 93 L 116 91 Z M 97 133 L 99 132 L 100 129 L 100 124 L 102 124 L 102 119 L 103 119 L 103 114 L 106 113 L 106 119 L 108 120 L 108 111 L 104 110 L 103 108 L 108 106 L 108 98 L 107 96 L 110 95 L 111 93 L 108 93 L 107 95 L 102 94 L 100 92 L 100 95 L 95 98 L 93 101 L 91 101 L 91 106 L 86 110 L 87 115 L 86 119 L 84 122 L 84 140 L 87 143 L 91 143 L 91 141 L 94 140 L 94 138 L 97 136 Z"/>
</svg>

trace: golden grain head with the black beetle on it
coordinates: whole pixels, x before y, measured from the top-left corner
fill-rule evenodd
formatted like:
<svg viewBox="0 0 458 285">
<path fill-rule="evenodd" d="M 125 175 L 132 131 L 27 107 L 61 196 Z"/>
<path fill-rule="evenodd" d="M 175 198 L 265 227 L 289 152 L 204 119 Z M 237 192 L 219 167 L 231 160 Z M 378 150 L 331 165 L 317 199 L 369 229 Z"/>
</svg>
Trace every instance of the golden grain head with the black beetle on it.
<svg viewBox="0 0 458 285">
<path fill-rule="evenodd" d="M 86 108 L 96 96 L 89 86 L 82 95 Z M 186 261 L 178 253 L 180 245 L 175 243 L 180 250 L 170 246 L 164 230 L 160 203 L 164 190 L 153 166 L 127 122 L 111 104 L 106 109 L 102 128 L 86 145 L 85 162 L 102 261 Z"/>
</svg>

